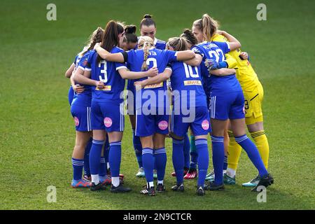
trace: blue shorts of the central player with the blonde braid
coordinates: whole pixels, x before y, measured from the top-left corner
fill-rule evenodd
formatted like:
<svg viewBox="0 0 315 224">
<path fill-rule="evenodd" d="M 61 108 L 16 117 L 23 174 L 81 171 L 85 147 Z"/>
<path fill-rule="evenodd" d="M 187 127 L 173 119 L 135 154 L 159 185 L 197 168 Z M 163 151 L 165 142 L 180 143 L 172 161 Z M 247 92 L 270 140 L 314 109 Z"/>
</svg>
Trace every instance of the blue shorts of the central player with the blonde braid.
<svg viewBox="0 0 315 224">
<path fill-rule="evenodd" d="M 161 109 L 160 109 L 161 110 Z M 147 137 L 155 133 L 169 133 L 169 114 L 166 109 L 162 109 L 163 113 L 158 114 L 158 108 L 151 108 L 153 114 L 144 115 L 141 109 L 136 111 L 136 136 Z"/>
</svg>

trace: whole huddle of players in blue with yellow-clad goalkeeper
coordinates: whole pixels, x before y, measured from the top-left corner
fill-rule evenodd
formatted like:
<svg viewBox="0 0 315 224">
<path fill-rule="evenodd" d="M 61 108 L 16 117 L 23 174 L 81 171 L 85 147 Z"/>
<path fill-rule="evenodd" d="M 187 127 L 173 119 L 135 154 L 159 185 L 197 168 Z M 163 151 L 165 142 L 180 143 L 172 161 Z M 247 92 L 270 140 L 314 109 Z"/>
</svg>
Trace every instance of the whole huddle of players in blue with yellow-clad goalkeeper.
<svg viewBox="0 0 315 224">
<path fill-rule="evenodd" d="M 183 192 L 185 179 L 197 179 L 200 196 L 235 185 L 241 148 L 258 170 L 242 186 L 259 191 L 271 185 L 263 89 L 237 38 L 219 30 L 207 14 L 167 43 L 155 38 L 151 15 L 141 20 L 141 36 L 136 29 L 113 20 L 105 29 L 98 27 L 66 71 L 76 125 L 71 186 L 92 191 L 110 186 L 111 193 L 132 190 L 120 174 L 126 79 L 136 176 L 147 183 L 141 194 L 166 190 L 166 137 L 172 138 L 173 191 Z M 207 174 L 209 134 L 214 171 Z"/>
</svg>

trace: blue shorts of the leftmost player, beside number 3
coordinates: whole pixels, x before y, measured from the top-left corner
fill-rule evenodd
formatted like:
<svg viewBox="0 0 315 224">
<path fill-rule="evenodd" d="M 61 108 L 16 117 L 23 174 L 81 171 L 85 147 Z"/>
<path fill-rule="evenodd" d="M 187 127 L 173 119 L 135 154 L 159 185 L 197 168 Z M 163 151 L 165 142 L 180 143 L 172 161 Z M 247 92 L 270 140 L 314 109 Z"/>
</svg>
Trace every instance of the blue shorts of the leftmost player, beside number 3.
<svg viewBox="0 0 315 224">
<path fill-rule="evenodd" d="M 71 114 L 78 132 L 90 132 L 91 128 L 91 108 L 90 106 L 71 105 Z"/>
</svg>

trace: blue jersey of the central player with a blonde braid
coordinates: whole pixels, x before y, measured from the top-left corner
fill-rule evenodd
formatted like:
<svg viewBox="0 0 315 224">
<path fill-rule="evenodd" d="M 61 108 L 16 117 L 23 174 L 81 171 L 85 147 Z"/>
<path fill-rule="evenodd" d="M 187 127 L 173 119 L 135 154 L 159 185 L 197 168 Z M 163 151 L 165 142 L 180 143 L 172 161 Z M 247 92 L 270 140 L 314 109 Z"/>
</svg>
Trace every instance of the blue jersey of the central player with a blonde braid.
<svg viewBox="0 0 315 224">
<path fill-rule="evenodd" d="M 153 66 L 158 68 L 159 73 L 162 73 L 167 64 L 170 62 L 176 62 L 176 52 L 172 50 L 159 50 L 156 48 L 153 48 L 149 50 L 148 59 L 146 60 L 146 64 L 148 64 L 148 69 L 151 69 Z M 130 50 L 127 52 L 127 65 L 130 68 L 130 71 L 141 71 L 141 66 L 144 62 L 144 50 Z M 147 77 L 146 77 L 147 78 Z M 146 78 L 141 78 L 139 80 L 144 80 Z M 142 90 L 142 96 L 148 94 L 146 93 L 147 90 L 152 90 L 155 92 L 155 96 L 158 96 L 159 90 L 167 91 L 167 85 L 166 82 L 158 83 L 155 85 L 147 85 L 144 87 L 144 90 Z M 137 96 L 137 94 L 136 94 Z M 148 99 L 147 97 L 141 96 L 141 105 L 144 104 Z M 140 104 L 136 105 L 136 108 L 139 109 Z M 153 106 L 156 107 L 165 107 L 169 105 L 168 104 L 168 97 L 158 97 L 156 99 L 156 104 Z"/>
</svg>

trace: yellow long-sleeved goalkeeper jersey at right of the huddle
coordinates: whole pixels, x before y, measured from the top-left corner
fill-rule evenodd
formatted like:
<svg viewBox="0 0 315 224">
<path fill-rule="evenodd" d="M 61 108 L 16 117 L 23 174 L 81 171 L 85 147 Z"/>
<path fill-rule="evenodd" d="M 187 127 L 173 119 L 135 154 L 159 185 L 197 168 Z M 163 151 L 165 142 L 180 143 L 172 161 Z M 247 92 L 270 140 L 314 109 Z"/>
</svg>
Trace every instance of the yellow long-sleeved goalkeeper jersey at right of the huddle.
<svg viewBox="0 0 315 224">
<path fill-rule="evenodd" d="M 228 42 L 228 39 L 223 35 L 215 34 L 211 38 L 211 41 Z M 259 80 L 257 74 L 251 66 L 251 63 L 248 60 L 241 59 L 239 57 L 240 54 L 240 49 L 233 50 L 225 55 L 226 61 L 229 64 L 229 68 L 236 69 L 236 76 L 239 80 L 239 83 L 241 84 L 241 88 L 244 91 L 252 91 L 254 87 L 258 86 Z"/>
</svg>

